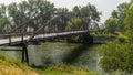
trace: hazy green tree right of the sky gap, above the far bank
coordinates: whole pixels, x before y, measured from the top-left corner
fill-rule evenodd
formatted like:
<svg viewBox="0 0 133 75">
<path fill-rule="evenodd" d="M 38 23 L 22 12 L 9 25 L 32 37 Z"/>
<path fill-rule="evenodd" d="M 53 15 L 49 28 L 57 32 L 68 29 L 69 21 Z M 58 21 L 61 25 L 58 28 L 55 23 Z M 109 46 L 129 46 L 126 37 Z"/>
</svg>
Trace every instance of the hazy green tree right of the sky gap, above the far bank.
<svg viewBox="0 0 133 75">
<path fill-rule="evenodd" d="M 111 17 L 105 21 L 105 32 L 115 33 L 124 32 L 126 24 L 124 23 L 125 18 L 127 17 L 126 11 L 129 9 L 129 3 L 122 3 L 117 7 L 117 10 L 114 10 L 111 13 Z"/>
</svg>

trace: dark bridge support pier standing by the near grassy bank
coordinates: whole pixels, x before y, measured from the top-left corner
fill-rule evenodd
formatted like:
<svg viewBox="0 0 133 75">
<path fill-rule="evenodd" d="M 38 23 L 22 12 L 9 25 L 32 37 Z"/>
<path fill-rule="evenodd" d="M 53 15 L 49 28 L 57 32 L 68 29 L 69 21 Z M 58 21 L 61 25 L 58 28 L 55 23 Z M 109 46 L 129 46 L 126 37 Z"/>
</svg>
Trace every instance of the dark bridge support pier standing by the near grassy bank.
<svg viewBox="0 0 133 75">
<path fill-rule="evenodd" d="M 22 43 L 22 63 L 29 64 L 28 45 Z"/>
</svg>

